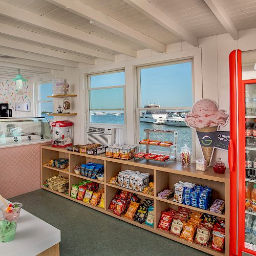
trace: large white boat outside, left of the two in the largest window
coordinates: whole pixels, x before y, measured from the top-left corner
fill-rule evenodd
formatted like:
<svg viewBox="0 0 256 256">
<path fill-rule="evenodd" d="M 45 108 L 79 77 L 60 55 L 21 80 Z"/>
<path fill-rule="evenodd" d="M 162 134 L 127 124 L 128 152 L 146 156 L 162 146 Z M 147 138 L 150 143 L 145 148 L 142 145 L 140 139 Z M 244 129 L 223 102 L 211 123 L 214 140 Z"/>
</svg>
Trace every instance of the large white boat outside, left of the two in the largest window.
<svg viewBox="0 0 256 256">
<path fill-rule="evenodd" d="M 158 104 L 145 105 L 144 108 L 160 108 Z M 146 110 L 140 112 L 140 122 L 160 124 L 167 118 L 166 110 Z"/>
</svg>

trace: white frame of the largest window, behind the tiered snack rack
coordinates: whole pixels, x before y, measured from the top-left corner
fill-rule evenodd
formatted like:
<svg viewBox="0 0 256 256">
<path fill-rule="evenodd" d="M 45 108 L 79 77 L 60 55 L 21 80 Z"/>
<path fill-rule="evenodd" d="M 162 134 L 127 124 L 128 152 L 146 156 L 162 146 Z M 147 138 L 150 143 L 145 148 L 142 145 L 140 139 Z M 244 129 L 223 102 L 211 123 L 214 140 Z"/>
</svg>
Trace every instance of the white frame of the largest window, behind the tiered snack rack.
<svg viewBox="0 0 256 256">
<path fill-rule="evenodd" d="M 160 108 L 143 108 L 141 106 L 141 84 L 140 84 L 140 70 L 141 69 L 146 69 L 146 68 L 154 68 L 154 67 L 162 67 L 162 66 L 168 66 L 168 65 L 176 65 L 180 63 L 187 63 L 191 62 L 191 84 L 192 84 L 192 105 L 191 106 L 174 106 L 174 107 L 160 107 Z M 147 64 L 147 65 L 141 65 L 137 66 L 137 108 L 135 111 L 135 121 L 136 121 L 136 144 L 139 145 L 140 142 L 140 111 L 143 110 L 191 110 L 193 104 L 195 103 L 195 82 L 194 82 L 194 59 L 193 58 L 187 58 L 187 59 L 182 59 L 182 60 L 169 60 L 165 62 L 160 62 L 160 63 L 152 63 L 152 64 Z M 193 162 L 196 160 L 196 133 L 194 129 L 191 129 L 192 132 L 192 160 Z M 152 151 L 154 153 L 154 151 Z M 164 151 L 157 151 L 160 154 L 166 154 Z M 177 150 L 177 158 L 180 158 L 180 152 Z"/>
</svg>

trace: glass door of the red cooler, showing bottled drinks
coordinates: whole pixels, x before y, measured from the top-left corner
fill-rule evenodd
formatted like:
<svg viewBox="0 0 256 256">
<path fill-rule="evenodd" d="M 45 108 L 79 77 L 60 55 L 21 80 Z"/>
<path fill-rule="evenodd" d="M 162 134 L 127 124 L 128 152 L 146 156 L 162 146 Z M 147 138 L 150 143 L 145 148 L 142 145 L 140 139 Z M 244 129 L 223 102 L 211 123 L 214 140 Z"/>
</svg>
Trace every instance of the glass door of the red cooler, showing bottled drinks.
<svg viewBox="0 0 256 256">
<path fill-rule="evenodd" d="M 243 80 L 245 102 L 244 236 L 246 249 L 256 253 L 256 80 Z"/>
</svg>

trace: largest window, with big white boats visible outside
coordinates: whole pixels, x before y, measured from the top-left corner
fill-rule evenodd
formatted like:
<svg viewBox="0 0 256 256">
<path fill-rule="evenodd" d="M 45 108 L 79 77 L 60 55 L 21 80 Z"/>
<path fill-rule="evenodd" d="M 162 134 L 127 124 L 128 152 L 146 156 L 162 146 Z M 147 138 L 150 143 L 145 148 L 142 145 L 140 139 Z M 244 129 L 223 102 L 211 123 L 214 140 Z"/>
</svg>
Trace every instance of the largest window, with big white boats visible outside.
<svg viewBox="0 0 256 256">
<path fill-rule="evenodd" d="M 138 68 L 137 139 L 144 138 L 144 129 L 172 130 L 178 132 L 177 153 L 185 143 L 193 148 L 193 132 L 184 122 L 185 113 L 194 102 L 193 94 L 191 60 Z M 153 136 L 155 140 L 172 140 L 168 134 Z M 157 146 L 155 150 L 167 151 Z"/>
</svg>

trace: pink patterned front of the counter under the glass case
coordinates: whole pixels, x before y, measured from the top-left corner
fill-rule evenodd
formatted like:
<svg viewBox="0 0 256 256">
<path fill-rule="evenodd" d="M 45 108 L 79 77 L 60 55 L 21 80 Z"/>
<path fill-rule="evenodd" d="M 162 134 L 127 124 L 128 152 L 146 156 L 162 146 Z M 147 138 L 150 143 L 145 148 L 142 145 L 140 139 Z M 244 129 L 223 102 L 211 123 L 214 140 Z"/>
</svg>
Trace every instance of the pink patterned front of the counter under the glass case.
<svg viewBox="0 0 256 256">
<path fill-rule="evenodd" d="M 0 194 L 4 198 L 41 187 L 41 145 L 0 148 Z"/>
</svg>

